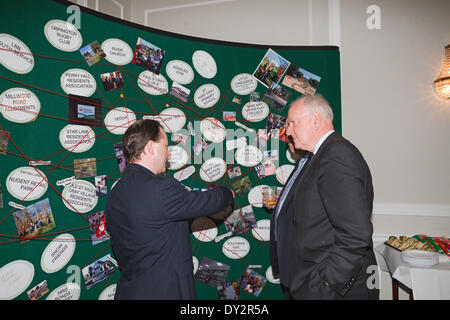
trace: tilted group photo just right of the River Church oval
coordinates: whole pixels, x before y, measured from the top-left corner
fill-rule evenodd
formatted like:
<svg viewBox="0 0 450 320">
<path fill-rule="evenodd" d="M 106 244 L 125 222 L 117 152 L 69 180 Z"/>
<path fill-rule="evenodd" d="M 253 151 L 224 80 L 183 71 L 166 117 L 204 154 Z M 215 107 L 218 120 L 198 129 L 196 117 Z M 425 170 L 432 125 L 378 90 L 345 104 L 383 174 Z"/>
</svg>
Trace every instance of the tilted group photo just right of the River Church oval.
<svg viewBox="0 0 450 320">
<path fill-rule="evenodd" d="M 165 53 L 165 50 L 142 38 L 138 38 L 132 62 L 155 74 L 159 74 Z"/>
</svg>

